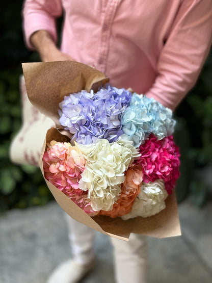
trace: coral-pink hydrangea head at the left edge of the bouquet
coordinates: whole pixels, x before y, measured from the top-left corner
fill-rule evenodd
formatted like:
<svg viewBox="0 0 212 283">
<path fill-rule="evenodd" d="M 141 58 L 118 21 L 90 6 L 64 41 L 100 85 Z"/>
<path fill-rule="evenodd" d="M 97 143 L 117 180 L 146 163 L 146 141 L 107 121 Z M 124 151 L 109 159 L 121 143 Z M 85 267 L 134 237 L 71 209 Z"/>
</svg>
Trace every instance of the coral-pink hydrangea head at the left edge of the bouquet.
<svg viewBox="0 0 212 283">
<path fill-rule="evenodd" d="M 82 153 L 66 142 L 51 141 L 43 155 L 45 178 L 59 190 L 73 188 L 78 195 L 83 193 L 78 182 L 85 163 Z"/>
</svg>

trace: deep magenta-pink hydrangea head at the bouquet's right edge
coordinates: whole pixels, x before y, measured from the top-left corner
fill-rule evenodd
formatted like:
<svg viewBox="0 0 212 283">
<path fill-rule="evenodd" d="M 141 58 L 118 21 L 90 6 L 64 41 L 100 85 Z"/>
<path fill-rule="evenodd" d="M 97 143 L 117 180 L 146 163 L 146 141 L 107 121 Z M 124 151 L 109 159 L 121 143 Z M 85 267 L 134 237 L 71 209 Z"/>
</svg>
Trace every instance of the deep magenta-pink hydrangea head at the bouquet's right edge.
<svg viewBox="0 0 212 283">
<path fill-rule="evenodd" d="M 157 140 L 150 135 L 140 146 L 141 157 L 136 164 L 143 167 L 143 182 L 154 182 L 163 179 L 168 194 L 172 193 L 179 177 L 179 148 L 175 145 L 173 136 Z"/>
</svg>

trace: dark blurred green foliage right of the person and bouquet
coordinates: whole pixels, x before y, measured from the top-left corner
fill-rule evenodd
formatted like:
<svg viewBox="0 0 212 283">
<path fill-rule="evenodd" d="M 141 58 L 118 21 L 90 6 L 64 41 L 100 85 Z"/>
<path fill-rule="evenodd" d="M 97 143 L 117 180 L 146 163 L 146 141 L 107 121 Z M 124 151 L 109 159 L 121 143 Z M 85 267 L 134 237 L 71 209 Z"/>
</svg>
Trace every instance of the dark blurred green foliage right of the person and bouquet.
<svg viewBox="0 0 212 283">
<path fill-rule="evenodd" d="M 202 205 L 209 196 L 209 185 L 197 174 L 212 163 L 212 52 L 200 78 L 181 103 L 175 115 L 178 121 L 176 142 L 181 149 L 181 177 L 177 186 L 178 200 L 188 194 Z M 212 184 L 210 184 L 211 186 Z"/>
</svg>

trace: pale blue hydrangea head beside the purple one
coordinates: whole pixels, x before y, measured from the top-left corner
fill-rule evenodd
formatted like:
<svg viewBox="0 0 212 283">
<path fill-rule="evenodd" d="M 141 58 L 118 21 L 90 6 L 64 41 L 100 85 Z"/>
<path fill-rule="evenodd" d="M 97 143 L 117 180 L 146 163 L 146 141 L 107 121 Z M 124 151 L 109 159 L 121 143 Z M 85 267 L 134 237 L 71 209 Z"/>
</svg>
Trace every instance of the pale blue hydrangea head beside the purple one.
<svg viewBox="0 0 212 283">
<path fill-rule="evenodd" d="M 151 133 L 157 139 L 172 135 L 175 125 L 171 109 L 154 98 L 137 93 L 133 94 L 121 122 L 122 138 L 133 141 L 135 147 L 139 147 Z"/>
</svg>

